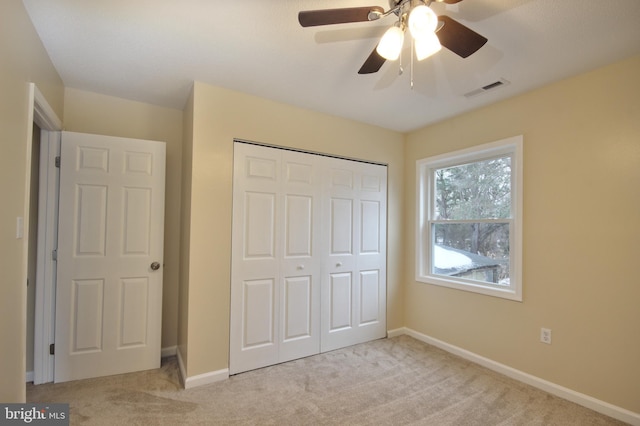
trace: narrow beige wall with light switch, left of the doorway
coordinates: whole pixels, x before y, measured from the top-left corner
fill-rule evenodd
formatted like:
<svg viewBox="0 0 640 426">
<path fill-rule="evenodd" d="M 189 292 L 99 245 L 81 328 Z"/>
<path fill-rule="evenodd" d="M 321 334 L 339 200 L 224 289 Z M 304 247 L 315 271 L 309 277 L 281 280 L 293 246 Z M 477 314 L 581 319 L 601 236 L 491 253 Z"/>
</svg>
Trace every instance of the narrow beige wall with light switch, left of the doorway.
<svg viewBox="0 0 640 426">
<path fill-rule="evenodd" d="M 16 239 L 16 218 L 28 224 L 31 170 L 29 82 L 35 82 L 62 118 L 64 93 L 58 73 L 20 0 L 0 2 L 0 401 L 25 400 L 28 226 Z M 32 230 L 34 231 L 34 230 Z M 35 231 L 34 231 L 35 232 Z"/>
</svg>

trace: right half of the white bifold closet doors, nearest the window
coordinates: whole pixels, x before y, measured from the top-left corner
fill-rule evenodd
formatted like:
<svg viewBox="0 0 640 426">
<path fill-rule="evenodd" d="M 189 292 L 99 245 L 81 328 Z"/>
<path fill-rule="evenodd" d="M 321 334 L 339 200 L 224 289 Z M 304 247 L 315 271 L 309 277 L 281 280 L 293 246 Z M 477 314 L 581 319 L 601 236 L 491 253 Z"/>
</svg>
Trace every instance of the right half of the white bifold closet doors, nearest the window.
<svg viewBox="0 0 640 426">
<path fill-rule="evenodd" d="M 328 158 L 321 351 L 386 336 L 387 168 Z"/>
</svg>

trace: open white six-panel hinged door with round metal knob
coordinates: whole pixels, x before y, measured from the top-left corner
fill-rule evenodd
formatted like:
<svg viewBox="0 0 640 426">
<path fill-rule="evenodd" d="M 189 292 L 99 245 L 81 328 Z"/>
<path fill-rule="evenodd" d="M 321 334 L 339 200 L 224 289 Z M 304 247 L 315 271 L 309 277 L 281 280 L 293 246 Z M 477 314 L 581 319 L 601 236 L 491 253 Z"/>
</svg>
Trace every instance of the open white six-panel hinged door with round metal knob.
<svg viewBox="0 0 640 426">
<path fill-rule="evenodd" d="M 160 366 L 165 144 L 62 133 L 55 381 Z"/>
</svg>

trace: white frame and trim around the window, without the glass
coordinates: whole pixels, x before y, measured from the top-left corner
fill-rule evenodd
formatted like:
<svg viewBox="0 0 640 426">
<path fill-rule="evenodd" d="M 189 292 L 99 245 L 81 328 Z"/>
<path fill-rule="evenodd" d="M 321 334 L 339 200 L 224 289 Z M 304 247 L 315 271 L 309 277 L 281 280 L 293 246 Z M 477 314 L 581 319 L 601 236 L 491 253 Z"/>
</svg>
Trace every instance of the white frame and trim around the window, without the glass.
<svg viewBox="0 0 640 426">
<path fill-rule="evenodd" d="M 522 145 L 523 137 L 519 135 L 416 161 L 416 281 L 522 301 Z M 511 156 L 509 286 L 432 274 L 433 171 L 505 155 Z"/>
</svg>

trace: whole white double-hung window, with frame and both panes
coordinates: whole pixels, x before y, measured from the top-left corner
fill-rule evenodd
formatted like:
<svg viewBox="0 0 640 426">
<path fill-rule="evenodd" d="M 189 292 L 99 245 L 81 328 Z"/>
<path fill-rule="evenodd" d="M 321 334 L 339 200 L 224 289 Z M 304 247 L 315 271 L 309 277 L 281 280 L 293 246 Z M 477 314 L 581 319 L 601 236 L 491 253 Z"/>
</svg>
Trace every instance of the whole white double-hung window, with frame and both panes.
<svg viewBox="0 0 640 426">
<path fill-rule="evenodd" d="M 416 280 L 522 301 L 522 136 L 416 165 Z"/>
</svg>

